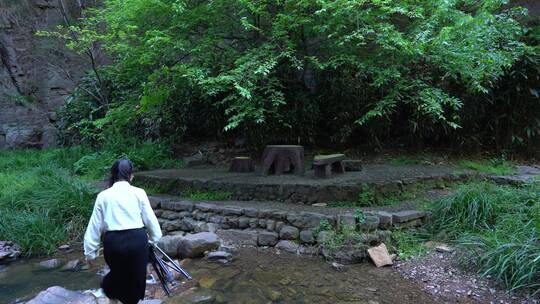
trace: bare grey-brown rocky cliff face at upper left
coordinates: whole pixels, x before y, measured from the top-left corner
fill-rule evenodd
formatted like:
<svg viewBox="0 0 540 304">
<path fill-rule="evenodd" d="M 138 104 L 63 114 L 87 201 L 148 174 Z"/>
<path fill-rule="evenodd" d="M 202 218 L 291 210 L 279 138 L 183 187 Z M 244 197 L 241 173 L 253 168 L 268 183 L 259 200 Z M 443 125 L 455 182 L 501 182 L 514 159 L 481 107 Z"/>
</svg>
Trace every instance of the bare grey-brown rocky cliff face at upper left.
<svg viewBox="0 0 540 304">
<path fill-rule="evenodd" d="M 35 35 L 63 22 L 61 7 L 72 18 L 80 1 L 62 1 L 0 0 L 0 149 L 56 143 L 54 111 L 85 69 L 59 41 Z"/>
</svg>

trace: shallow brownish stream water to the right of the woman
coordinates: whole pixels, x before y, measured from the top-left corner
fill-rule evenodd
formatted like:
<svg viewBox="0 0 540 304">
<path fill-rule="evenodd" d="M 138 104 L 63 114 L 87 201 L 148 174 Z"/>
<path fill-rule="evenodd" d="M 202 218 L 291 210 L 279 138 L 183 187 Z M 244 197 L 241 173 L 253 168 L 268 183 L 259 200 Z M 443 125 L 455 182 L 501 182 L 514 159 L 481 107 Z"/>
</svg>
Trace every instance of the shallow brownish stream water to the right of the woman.
<svg viewBox="0 0 540 304">
<path fill-rule="evenodd" d="M 201 286 L 195 294 L 218 303 L 437 303 L 392 269 L 368 264 L 337 272 L 320 258 L 244 250 L 228 266 L 198 260 L 188 269 Z"/>
</svg>

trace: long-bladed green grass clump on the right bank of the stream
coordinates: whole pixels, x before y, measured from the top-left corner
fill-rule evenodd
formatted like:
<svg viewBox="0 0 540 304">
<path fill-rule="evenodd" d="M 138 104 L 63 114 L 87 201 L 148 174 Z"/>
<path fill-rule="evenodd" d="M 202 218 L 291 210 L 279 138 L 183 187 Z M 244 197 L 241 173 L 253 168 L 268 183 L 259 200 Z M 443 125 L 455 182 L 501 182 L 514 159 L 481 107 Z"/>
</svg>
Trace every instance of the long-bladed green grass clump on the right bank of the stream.
<svg viewBox="0 0 540 304">
<path fill-rule="evenodd" d="M 540 293 L 540 187 L 472 183 L 434 206 L 434 231 L 482 275 Z"/>
</svg>

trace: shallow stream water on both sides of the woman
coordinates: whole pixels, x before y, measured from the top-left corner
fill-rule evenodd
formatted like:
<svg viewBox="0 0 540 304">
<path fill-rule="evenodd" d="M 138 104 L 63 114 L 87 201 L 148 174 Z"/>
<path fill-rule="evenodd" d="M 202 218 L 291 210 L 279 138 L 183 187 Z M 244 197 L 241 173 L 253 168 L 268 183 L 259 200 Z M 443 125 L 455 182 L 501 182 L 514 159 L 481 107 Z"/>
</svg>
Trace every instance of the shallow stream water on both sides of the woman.
<svg viewBox="0 0 540 304">
<path fill-rule="evenodd" d="M 437 303 L 391 268 L 369 264 L 347 266 L 346 271 L 338 272 L 316 257 L 241 250 L 228 265 L 193 260 L 186 269 L 199 288 L 165 303 L 192 303 L 194 297 L 255 304 Z M 19 262 L 0 270 L 0 303 L 15 303 L 54 285 L 72 290 L 97 288 L 99 281 L 95 271 L 42 270 L 36 261 Z"/>
</svg>

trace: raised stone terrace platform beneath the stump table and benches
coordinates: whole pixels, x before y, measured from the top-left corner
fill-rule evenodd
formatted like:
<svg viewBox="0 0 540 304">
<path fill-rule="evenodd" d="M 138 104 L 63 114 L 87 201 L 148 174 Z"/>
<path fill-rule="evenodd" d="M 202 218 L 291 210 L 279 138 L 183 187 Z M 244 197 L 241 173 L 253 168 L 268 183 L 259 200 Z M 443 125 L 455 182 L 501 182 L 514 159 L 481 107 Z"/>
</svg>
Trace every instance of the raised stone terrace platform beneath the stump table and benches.
<svg viewBox="0 0 540 304">
<path fill-rule="evenodd" d="M 440 188 L 471 176 L 471 172 L 442 165 L 394 166 L 368 164 L 360 172 L 346 172 L 328 179 L 318 179 L 313 171 L 304 176 L 258 173 L 231 173 L 226 168 L 171 169 L 137 174 L 139 183 L 157 187 L 160 192 L 178 195 L 185 191 L 224 191 L 232 199 L 286 203 L 327 203 L 354 201 L 366 190 L 379 194 Z"/>
</svg>

